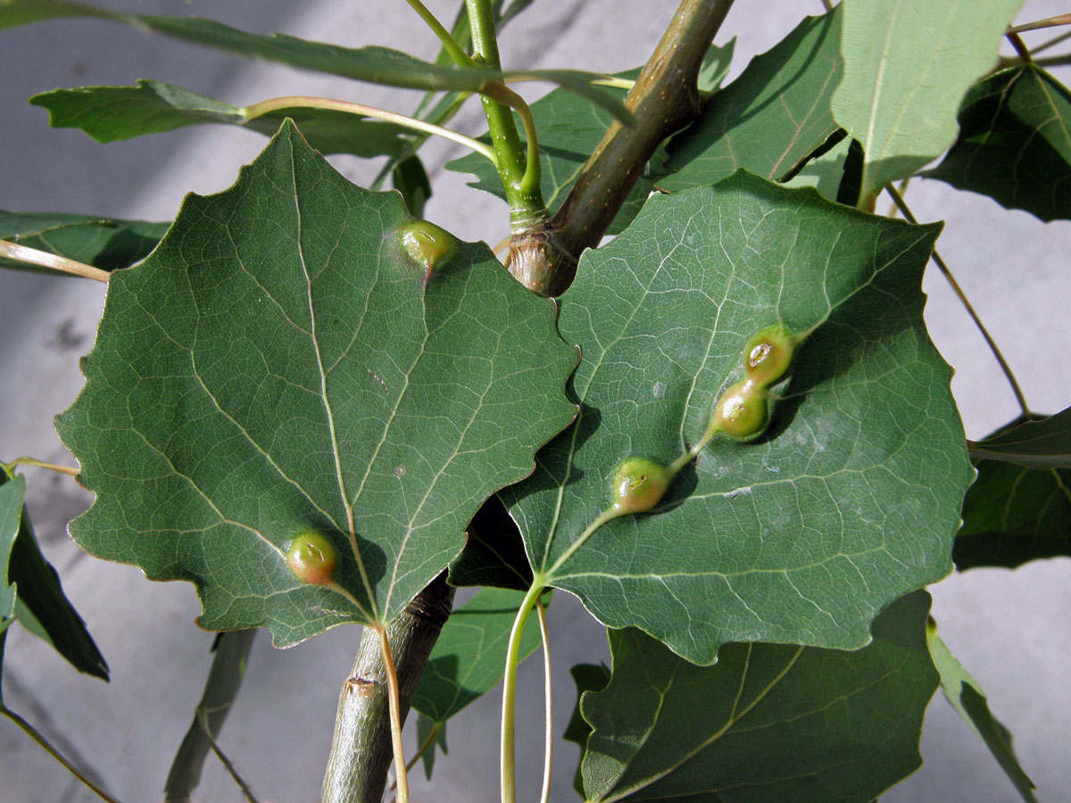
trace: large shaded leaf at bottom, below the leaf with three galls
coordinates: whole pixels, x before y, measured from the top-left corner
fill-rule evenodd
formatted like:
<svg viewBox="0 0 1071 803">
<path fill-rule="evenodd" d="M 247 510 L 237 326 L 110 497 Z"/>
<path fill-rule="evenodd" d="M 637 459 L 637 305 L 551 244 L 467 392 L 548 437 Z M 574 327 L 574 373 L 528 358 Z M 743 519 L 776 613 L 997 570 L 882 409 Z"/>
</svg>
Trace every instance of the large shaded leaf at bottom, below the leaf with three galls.
<svg viewBox="0 0 1071 803">
<path fill-rule="evenodd" d="M 610 631 L 610 683 L 580 703 L 586 800 L 870 803 L 922 763 L 929 608 L 895 602 L 857 652 L 734 643 L 713 667 Z"/>
</svg>

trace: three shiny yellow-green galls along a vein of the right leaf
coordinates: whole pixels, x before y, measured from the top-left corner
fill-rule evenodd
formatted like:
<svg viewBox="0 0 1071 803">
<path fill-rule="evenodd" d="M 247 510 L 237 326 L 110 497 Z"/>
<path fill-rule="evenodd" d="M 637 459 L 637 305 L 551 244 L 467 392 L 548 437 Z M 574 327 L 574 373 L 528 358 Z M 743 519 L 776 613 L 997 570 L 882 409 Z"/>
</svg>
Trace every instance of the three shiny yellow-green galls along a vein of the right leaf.
<svg viewBox="0 0 1071 803">
<path fill-rule="evenodd" d="M 767 389 L 785 376 L 800 339 L 778 323 L 764 329 L 748 342 L 744 347 L 746 378 L 729 387 L 718 398 L 700 446 L 715 433 L 750 440 L 766 429 L 770 421 Z M 646 457 L 621 460 L 614 472 L 610 510 L 615 515 L 647 513 L 662 501 L 676 473 L 674 469 Z"/>
</svg>

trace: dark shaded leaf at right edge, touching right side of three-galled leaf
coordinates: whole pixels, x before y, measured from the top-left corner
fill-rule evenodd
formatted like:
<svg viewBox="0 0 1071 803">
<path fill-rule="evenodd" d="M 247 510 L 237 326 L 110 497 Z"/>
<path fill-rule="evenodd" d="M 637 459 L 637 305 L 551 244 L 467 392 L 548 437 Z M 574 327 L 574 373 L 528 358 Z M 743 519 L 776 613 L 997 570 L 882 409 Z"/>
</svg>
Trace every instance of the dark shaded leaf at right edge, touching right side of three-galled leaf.
<svg viewBox="0 0 1071 803">
<path fill-rule="evenodd" d="M 963 502 L 959 570 L 1071 557 L 1071 470 L 982 460 Z"/>
</svg>

